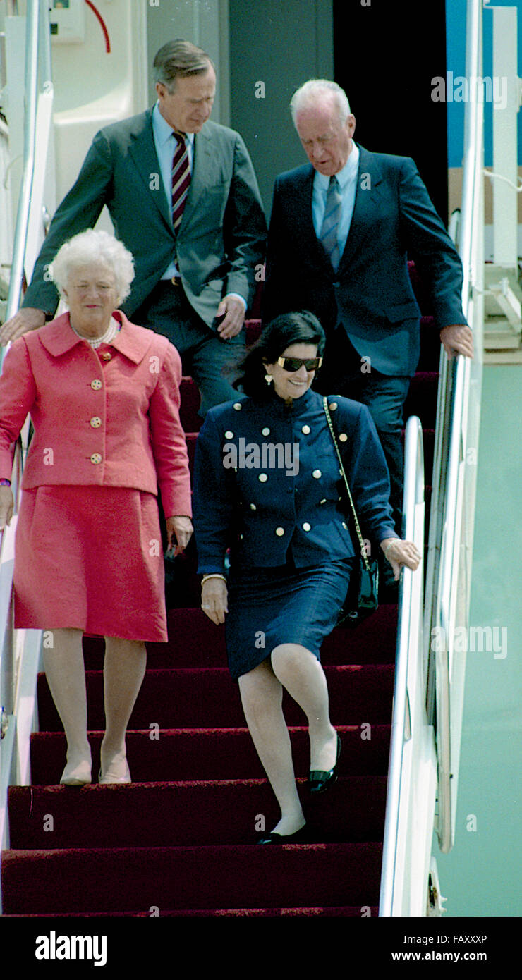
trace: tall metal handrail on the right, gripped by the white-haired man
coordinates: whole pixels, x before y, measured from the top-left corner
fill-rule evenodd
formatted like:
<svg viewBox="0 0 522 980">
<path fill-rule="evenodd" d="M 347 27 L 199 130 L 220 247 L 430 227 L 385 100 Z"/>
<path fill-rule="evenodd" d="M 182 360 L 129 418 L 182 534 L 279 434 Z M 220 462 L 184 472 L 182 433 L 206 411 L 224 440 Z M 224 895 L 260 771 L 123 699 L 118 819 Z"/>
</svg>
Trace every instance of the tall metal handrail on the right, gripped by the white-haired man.
<svg viewBox="0 0 522 980">
<path fill-rule="evenodd" d="M 482 76 L 482 2 L 468 0 L 466 33 L 467 76 Z M 464 172 L 459 254 L 464 281 L 462 307 L 467 321 L 473 321 L 473 287 L 476 285 L 476 236 L 483 233 L 480 214 L 480 186 L 483 180 L 482 140 L 483 105 L 479 100 L 466 103 L 464 130 Z M 480 227 L 479 227 L 480 223 Z M 476 353 L 477 356 L 477 353 Z M 458 356 L 448 362 L 441 353 L 437 436 L 434 457 L 433 497 L 430 515 L 430 539 L 426 592 L 426 629 L 430 641 L 436 635 L 445 638 L 432 650 L 430 643 L 427 711 L 430 721 L 437 717 L 439 757 L 439 842 L 446 853 L 451 848 L 451 731 L 450 731 L 450 663 L 448 645 L 452 622 L 451 607 L 456 592 L 455 581 L 460 560 L 460 520 L 462 511 L 462 431 L 467 416 L 470 385 L 469 359 Z M 468 583 L 469 586 L 469 583 Z M 469 607 L 466 603 L 465 615 Z"/>
</svg>

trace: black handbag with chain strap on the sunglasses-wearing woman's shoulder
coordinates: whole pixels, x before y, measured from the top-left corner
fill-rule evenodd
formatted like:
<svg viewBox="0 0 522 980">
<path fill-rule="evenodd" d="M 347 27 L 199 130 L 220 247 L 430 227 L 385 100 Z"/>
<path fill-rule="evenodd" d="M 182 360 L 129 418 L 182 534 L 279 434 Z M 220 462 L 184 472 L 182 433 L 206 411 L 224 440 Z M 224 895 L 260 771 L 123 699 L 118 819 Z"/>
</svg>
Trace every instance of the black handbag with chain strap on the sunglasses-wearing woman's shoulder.
<svg viewBox="0 0 522 980">
<path fill-rule="evenodd" d="M 334 445 L 336 447 L 336 453 L 338 454 L 339 467 L 344 480 L 344 486 L 346 487 L 351 513 L 353 515 L 353 526 L 355 527 L 357 534 L 357 542 L 353 541 L 355 556 L 357 556 L 357 551 L 359 552 L 359 561 L 357 562 L 357 560 L 355 560 L 354 562 L 348 590 L 346 592 L 346 598 L 339 612 L 338 625 L 339 623 L 343 623 L 345 626 L 357 626 L 363 619 L 366 619 L 367 616 L 375 613 L 378 607 L 377 597 L 379 591 L 379 565 L 377 563 L 377 559 L 368 558 L 366 554 L 366 548 L 362 539 L 361 529 L 359 527 L 359 521 L 357 520 L 355 508 L 353 506 L 353 500 L 351 497 L 350 488 L 348 486 L 348 481 L 346 479 L 346 473 L 344 472 L 344 466 L 342 466 L 338 440 L 336 439 L 336 433 L 334 431 L 332 417 L 330 416 L 330 409 L 328 407 L 328 398 L 326 397 L 323 398 L 323 406 L 328 419 L 330 432 L 334 440 Z M 347 519 L 348 527 L 351 529 L 351 521 L 349 521 L 349 517 Z M 357 543 L 359 546 L 358 548 Z"/>
</svg>

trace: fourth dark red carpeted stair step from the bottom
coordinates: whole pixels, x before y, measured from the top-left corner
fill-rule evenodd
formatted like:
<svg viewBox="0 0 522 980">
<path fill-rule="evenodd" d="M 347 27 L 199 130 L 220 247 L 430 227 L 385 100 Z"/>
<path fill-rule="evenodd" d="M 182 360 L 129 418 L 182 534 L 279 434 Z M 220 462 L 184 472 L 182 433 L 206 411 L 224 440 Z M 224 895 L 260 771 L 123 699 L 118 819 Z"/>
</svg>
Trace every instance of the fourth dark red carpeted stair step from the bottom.
<svg viewBox="0 0 522 980">
<path fill-rule="evenodd" d="M 393 665 L 391 663 L 326 666 L 334 724 L 363 722 L 389 724 L 392 713 Z M 87 727 L 104 729 L 103 674 L 85 672 Z M 45 674 L 38 674 L 38 718 L 43 731 L 62 731 L 62 724 L 49 692 Z M 305 716 L 285 695 L 287 723 L 301 725 Z M 150 725 L 170 728 L 176 720 L 181 728 L 242 727 L 244 717 L 238 685 L 227 667 L 147 670 L 130 728 Z"/>
</svg>

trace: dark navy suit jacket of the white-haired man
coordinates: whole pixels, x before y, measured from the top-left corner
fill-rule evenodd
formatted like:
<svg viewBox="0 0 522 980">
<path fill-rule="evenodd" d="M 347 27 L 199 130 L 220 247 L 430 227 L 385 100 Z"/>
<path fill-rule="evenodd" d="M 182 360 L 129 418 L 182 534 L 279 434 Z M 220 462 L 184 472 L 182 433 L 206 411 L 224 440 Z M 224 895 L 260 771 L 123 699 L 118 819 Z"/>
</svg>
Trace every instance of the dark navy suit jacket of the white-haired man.
<svg viewBox="0 0 522 980">
<path fill-rule="evenodd" d="M 359 150 L 353 218 L 337 272 L 314 230 L 313 167 L 277 177 L 263 319 L 310 310 L 326 330 L 341 322 L 377 370 L 413 375 L 420 312 L 407 258 L 415 259 L 439 329 L 466 322 L 462 266 L 413 161 Z"/>
</svg>

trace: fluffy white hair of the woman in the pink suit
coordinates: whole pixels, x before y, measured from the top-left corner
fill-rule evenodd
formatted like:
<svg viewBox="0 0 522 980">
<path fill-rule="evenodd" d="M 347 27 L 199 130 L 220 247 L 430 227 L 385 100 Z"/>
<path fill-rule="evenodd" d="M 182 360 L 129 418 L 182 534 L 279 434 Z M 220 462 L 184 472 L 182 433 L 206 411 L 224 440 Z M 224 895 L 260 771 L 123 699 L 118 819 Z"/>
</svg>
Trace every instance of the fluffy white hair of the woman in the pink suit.
<svg viewBox="0 0 522 980">
<path fill-rule="evenodd" d="M 130 293 L 130 283 L 134 278 L 134 262 L 129 249 L 107 231 L 80 231 L 78 235 L 64 242 L 57 252 L 49 269 L 61 296 L 67 289 L 69 276 L 79 266 L 100 264 L 111 270 L 116 282 L 118 304 L 123 303 Z"/>
</svg>

